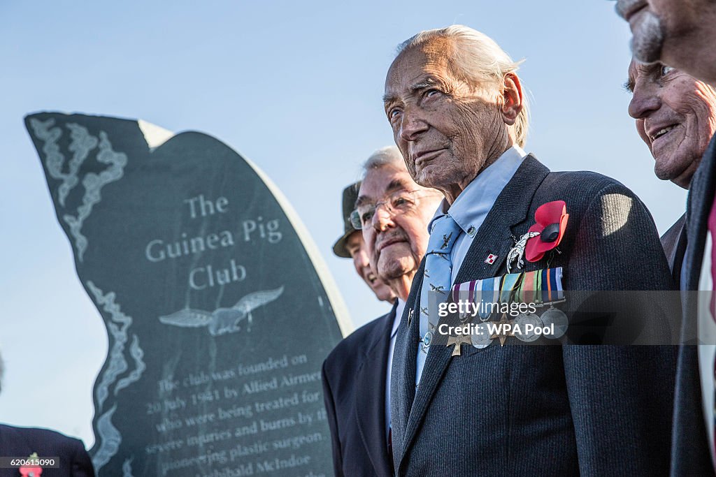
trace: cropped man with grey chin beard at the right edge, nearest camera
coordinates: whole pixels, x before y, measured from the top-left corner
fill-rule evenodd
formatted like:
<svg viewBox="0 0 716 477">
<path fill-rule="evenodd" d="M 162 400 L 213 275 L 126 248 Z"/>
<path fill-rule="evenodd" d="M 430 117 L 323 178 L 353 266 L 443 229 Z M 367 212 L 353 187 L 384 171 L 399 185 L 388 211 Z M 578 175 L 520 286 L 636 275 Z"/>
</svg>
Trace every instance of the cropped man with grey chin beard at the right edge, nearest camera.
<svg viewBox="0 0 716 477">
<path fill-rule="evenodd" d="M 710 0 L 617 0 L 632 29 L 632 54 L 716 87 L 716 3 Z M 672 475 L 713 475 L 715 313 L 697 290 L 714 291 L 716 144 L 712 138 L 694 174 L 686 207 L 687 248 L 681 272 L 682 323 L 674 402 Z M 706 343 L 694 346 L 696 343 Z"/>
</svg>

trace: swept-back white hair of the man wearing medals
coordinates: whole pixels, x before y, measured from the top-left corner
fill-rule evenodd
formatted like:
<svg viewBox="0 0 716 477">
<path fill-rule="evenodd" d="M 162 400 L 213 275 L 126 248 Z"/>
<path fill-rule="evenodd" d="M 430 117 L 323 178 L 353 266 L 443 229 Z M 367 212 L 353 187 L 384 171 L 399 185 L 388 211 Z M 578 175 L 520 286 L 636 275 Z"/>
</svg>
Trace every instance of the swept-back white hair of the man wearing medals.
<svg viewBox="0 0 716 477">
<path fill-rule="evenodd" d="M 397 47 L 396 57 L 406 49 L 426 44 L 434 39 L 449 39 L 455 49 L 450 65 L 465 75 L 468 82 L 498 82 L 502 84 L 505 75 L 516 73 L 524 60 L 513 62 L 500 46 L 484 33 L 465 25 L 450 25 L 445 28 L 425 30 L 403 41 Z M 527 95 L 522 97 L 522 110 L 515 121 L 517 144 L 524 147 L 529 126 Z"/>
</svg>

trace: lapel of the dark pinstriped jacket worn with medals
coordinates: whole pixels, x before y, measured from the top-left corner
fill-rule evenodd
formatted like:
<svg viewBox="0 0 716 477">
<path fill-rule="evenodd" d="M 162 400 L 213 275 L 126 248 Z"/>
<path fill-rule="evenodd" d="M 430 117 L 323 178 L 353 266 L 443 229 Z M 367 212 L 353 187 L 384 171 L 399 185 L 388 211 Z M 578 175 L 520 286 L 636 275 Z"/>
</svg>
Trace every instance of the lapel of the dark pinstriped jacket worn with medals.
<svg viewBox="0 0 716 477">
<path fill-rule="evenodd" d="M 455 282 L 461 283 L 497 275 L 508 251 L 513 246 L 511 227 L 525 220 L 532 197 L 548 173 L 547 167 L 538 162 L 533 155 L 528 154 L 485 217 L 483 225 L 480 226 L 480 230 L 470 245 L 468 254 L 465 255 Z M 498 256 L 492 265 L 485 263 L 485 258 L 490 253 Z M 422 275 L 417 276 L 422 277 Z M 420 290 L 422 280 L 416 279 L 413 282 L 413 288 L 416 286 Z M 419 298 L 416 300 L 417 303 L 420 303 Z M 425 416 L 430 399 L 435 394 L 437 384 L 440 383 L 445 369 L 448 368 L 452 353 L 453 348 L 449 346 L 432 346 L 430 352 L 427 353 L 425 368 L 423 368 L 420 385 L 415 393 L 415 400 L 407 421 L 403 455 L 410 447 L 412 439 L 415 438 L 415 433 Z M 408 355 L 407 359 L 415 361 L 415 355 Z M 415 373 L 412 377 L 415 380 Z"/>
</svg>

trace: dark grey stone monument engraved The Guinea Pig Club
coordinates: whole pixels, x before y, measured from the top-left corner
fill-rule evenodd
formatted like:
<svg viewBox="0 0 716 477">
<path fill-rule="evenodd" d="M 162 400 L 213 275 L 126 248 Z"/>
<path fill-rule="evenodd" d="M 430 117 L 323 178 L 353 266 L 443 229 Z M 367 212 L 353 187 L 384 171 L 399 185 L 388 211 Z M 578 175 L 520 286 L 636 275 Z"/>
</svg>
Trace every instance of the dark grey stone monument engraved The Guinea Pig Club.
<svg viewBox="0 0 716 477">
<path fill-rule="evenodd" d="M 198 132 L 25 122 L 107 327 L 98 475 L 330 475 L 321 363 L 348 320 L 280 192 Z"/>
</svg>

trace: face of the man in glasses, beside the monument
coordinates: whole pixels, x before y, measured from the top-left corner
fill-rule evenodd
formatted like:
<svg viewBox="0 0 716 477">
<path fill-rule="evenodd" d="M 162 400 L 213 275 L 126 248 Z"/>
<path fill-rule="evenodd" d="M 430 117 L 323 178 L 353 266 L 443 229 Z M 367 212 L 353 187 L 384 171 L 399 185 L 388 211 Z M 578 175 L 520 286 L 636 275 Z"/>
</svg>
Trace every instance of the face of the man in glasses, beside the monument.
<svg viewBox="0 0 716 477">
<path fill-rule="evenodd" d="M 387 195 L 404 190 L 425 190 L 413 182 L 405 169 L 379 167 L 368 172 L 361 183 L 359 201 L 378 203 Z M 416 206 L 403 213 L 377 207 L 369 227 L 363 227 L 363 239 L 369 261 L 383 281 L 415 274 L 427 248 L 427 224 L 440 202 L 437 191 L 425 190 Z"/>
</svg>

